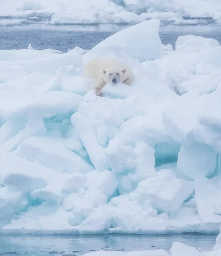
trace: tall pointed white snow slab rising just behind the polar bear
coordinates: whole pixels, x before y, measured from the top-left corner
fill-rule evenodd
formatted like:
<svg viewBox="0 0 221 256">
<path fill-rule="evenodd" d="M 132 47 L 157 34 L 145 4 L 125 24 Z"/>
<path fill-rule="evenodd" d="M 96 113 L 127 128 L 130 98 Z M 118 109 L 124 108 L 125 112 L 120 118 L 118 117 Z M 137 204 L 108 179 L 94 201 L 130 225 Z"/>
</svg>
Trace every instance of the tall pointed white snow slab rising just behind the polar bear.
<svg viewBox="0 0 221 256">
<path fill-rule="evenodd" d="M 89 61 L 95 56 L 106 56 L 112 52 L 117 55 L 123 52 L 140 62 L 162 58 L 163 49 L 159 38 L 159 25 L 160 21 L 153 19 L 119 31 L 96 45 L 83 58 L 85 61 Z M 143 33 L 140 33 L 141 31 Z M 134 38 L 139 38 L 136 47 L 133 45 Z"/>
</svg>

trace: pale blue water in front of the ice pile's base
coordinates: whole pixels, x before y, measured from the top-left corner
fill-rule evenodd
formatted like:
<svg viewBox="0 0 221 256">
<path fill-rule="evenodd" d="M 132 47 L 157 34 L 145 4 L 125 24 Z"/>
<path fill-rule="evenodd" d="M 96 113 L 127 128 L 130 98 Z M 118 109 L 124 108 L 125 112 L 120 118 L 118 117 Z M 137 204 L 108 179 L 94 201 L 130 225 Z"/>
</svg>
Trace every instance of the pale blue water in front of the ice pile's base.
<svg viewBox="0 0 221 256">
<path fill-rule="evenodd" d="M 201 250 L 211 250 L 215 244 L 215 238 L 215 235 L 194 234 L 169 236 L 0 236 L 0 253 L 16 253 L 9 254 L 12 256 L 59 256 L 63 254 L 80 256 L 101 249 L 123 251 L 169 250 L 174 241 L 201 248 Z"/>
</svg>

